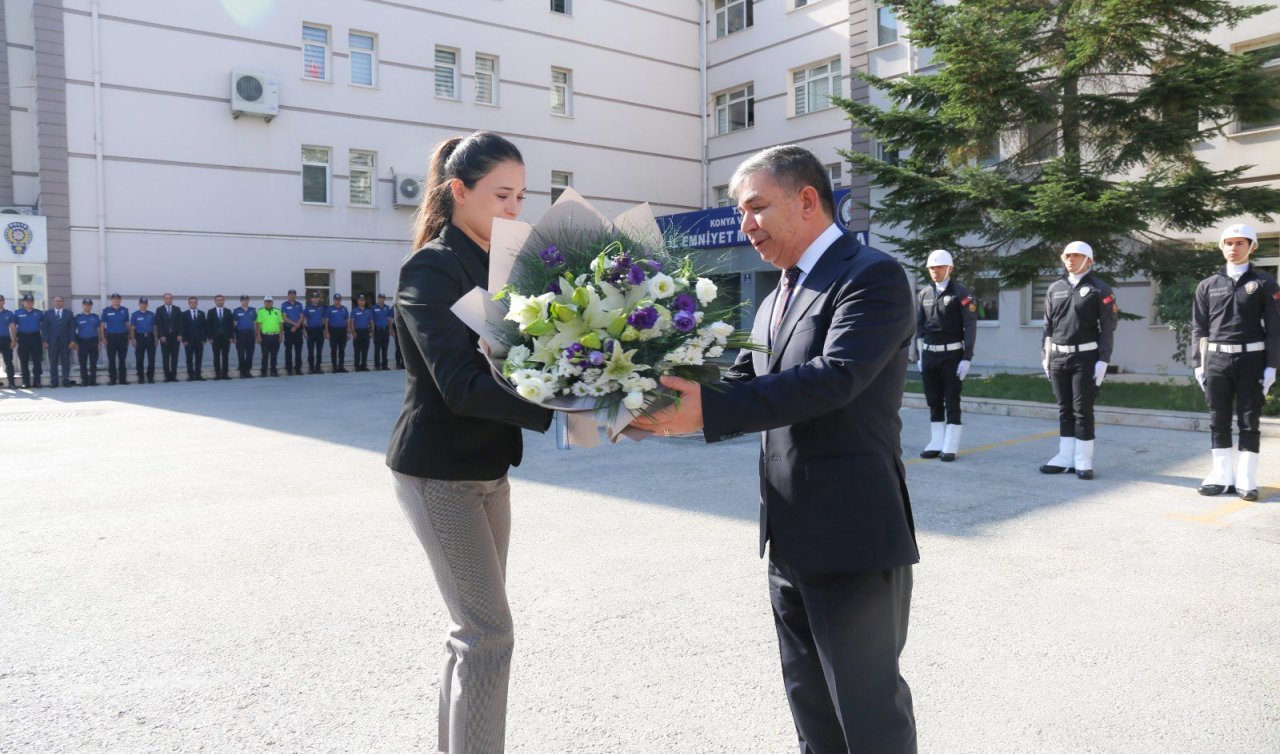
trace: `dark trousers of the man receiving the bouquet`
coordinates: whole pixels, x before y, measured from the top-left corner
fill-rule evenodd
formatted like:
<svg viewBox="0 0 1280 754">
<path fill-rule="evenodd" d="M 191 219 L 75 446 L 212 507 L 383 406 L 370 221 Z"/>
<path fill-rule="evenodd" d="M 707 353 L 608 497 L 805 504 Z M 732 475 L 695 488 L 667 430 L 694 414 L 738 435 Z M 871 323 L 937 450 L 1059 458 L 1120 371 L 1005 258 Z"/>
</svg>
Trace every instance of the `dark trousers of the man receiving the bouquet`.
<svg viewBox="0 0 1280 754">
<path fill-rule="evenodd" d="M 771 552 L 769 600 L 801 754 L 914 754 L 911 689 L 897 664 L 911 566 L 803 575 Z"/>
</svg>

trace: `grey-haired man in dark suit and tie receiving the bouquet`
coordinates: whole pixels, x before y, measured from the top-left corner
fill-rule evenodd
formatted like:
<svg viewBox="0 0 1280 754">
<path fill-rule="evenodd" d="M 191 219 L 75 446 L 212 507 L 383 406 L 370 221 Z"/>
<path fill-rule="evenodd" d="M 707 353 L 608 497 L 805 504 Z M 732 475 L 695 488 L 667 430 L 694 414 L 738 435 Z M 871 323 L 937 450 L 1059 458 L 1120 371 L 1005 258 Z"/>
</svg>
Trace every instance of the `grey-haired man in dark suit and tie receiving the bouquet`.
<svg viewBox="0 0 1280 754">
<path fill-rule="evenodd" d="M 796 146 L 739 166 L 742 233 L 782 283 L 723 390 L 663 378 L 676 408 L 637 420 L 707 442 L 763 433 L 760 554 L 800 751 L 914 753 L 911 691 L 899 673 L 919 561 L 901 461 L 911 285 L 888 255 L 832 223 L 822 164 Z"/>
</svg>

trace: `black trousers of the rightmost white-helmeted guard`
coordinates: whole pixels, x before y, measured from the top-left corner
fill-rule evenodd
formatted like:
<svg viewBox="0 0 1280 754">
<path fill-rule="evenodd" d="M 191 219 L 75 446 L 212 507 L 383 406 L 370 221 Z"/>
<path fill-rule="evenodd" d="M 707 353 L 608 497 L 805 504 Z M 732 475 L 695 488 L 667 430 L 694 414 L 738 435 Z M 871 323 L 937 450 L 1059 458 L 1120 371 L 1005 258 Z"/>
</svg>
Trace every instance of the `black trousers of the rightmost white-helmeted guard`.
<svg viewBox="0 0 1280 754">
<path fill-rule="evenodd" d="M 1204 401 L 1208 403 L 1208 430 L 1215 448 L 1231 447 L 1231 413 L 1240 429 L 1239 449 L 1258 452 L 1262 442 L 1260 419 L 1266 396 L 1262 371 L 1265 351 L 1219 353 L 1210 351 L 1204 365 Z M 1234 406 L 1233 406 L 1234 405 Z"/>
</svg>

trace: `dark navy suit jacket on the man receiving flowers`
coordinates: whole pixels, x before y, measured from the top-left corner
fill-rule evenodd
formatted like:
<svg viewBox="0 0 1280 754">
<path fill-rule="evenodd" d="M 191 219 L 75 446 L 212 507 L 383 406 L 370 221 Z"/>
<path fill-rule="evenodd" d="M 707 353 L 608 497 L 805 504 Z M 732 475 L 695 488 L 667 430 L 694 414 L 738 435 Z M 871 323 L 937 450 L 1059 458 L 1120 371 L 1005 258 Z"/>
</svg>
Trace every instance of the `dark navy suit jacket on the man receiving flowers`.
<svg viewBox="0 0 1280 754">
<path fill-rule="evenodd" d="M 753 341 L 768 342 L 774 292 Z M 919 562 L 899 408 L 915 332 L 911 283 L 845 234 L 792 294 L 773 353 L 742 351 L 723 392 L 704 388 L 707 442 L 763 431 L 764 543 L 801 574 Z"/>
</svg>

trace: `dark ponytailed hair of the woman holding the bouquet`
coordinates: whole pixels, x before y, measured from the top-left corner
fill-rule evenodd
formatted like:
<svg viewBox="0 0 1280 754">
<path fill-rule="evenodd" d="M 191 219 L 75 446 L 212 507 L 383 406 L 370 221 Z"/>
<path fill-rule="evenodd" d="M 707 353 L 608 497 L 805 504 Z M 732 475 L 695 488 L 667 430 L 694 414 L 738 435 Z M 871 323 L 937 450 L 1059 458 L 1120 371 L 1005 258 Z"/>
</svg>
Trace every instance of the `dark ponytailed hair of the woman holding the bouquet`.
<svg viewBox="0 0 1280 754">
<path fill-rule="evenodd" d="M 413 248 L 426 246 L 453 215 L 451 183 L 454 178 L 467 188 L 475 188 L 477 180 L 488 175 L 495 165 L 506 161 L 525 164 L 516 145 L 490 131 L 477 131 L 468 137 L 454 136 L 440 142 L 431 155 L 426 191 L 422 192 L 422 204 L 417 207 Z"/>
</svg>

